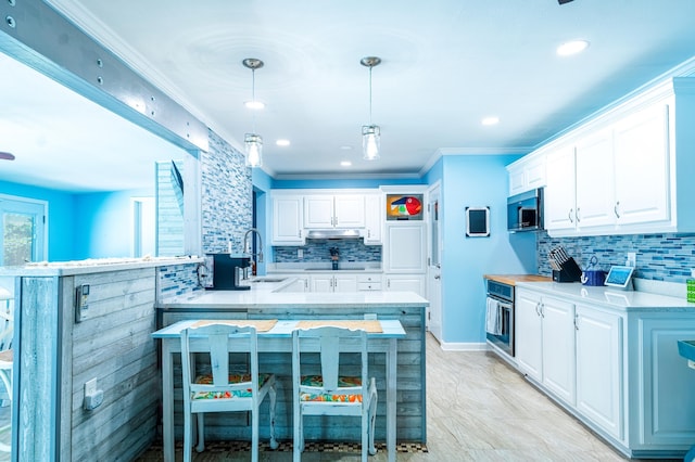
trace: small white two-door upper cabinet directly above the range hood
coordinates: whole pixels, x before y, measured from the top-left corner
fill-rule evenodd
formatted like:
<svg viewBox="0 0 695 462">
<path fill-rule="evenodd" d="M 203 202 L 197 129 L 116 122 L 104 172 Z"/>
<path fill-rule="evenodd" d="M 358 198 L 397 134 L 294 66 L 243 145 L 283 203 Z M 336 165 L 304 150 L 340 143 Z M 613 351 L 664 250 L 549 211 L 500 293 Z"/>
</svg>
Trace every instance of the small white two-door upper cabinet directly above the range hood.
<svg viewBox="0 0 695 462">
<path fill-rule="evenodd" d="M 304 228 L 364 228 L 364 194 L 311 194 L 304 197 Z"/>
</svg>

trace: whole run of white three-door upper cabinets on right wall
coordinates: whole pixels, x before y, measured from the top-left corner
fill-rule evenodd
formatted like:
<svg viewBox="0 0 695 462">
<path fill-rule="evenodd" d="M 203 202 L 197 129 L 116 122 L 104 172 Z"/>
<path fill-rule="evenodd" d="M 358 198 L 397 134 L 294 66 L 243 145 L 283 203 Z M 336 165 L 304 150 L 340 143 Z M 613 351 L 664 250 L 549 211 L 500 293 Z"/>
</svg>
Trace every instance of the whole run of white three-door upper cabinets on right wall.
<svg viewBox="0 0 695 462">
<path fill-rule="evenodd" d="M 544 147 L 552 236 L 695 231 L 687 207 L 695 137 L 686 125 L 695 117 L 695 88 L 681 84 L 682 97 L 658 88 L 554 142 L 566 147 Z"/>
</svg>

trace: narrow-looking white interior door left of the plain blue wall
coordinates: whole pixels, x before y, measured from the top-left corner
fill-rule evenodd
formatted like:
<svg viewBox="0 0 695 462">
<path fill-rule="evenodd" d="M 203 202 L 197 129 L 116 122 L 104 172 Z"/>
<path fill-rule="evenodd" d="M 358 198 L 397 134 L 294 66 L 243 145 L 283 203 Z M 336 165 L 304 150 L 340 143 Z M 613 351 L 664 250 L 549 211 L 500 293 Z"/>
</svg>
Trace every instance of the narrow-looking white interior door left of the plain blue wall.
<svg viewBox="0 0 695 462">
<path fill-rule="evenodd" d="M 442 341 L 442 252 L 443 243 L 440 226 L 440 184 L 435 183 L 428 193 L 428 221 L 430 232 L 427 258 L 427 294 L 430 301 L 428 329 L 438 341 Z"/>
</svg>

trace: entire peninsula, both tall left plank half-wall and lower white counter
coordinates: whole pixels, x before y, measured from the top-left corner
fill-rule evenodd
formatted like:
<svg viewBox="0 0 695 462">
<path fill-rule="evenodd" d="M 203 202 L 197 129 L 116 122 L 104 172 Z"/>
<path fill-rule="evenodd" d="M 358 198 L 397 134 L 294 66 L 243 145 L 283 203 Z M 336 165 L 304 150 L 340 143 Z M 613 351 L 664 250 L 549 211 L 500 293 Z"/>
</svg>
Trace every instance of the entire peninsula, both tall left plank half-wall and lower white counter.
<svg viewBox="0 0 695 462">
<path fill-rule="evenodd" d="M 425 298 L 402 292 L 285 293 L 292 278 L 275 277 L 256 278 L 249 291 L 203 291 L 202 261 L 102 259 L 0 268 L 0 275 L 15 279 L 14 396 L 20 406 L 13 407 L 13 424 L 21 460 L 131 460 L 150 447 L 157 438 L 162 399 L 159 342 L 152 334 L 184 319 L 376 315 L 397 320 L 405 336 L 397 339 L 395 364 L 396 438 L 426 442 Z M 380 388 L 376 437 L 381 441 L 390 378 L 383 352 L 370 355 L 370 373 Z M 287 440 L 292 431 L 289 363 L 289 354 L 262 354 L 262 365 L 282 381 L 277 435 Z M 180 374 L 176 364 L 174 370 Z M 180 378 L 174 383 L 176 397 Z M 28 396 L 47 399 L 24 399 Z M 180 421 L 175 412 L 178 437 Z M 206 427 L 211 440 L 247 436 L 245 419 L 224 425 L 211 420 Z M 331 426 L 320 437 L 345 439 L 349 431 Z"/>
</svg>

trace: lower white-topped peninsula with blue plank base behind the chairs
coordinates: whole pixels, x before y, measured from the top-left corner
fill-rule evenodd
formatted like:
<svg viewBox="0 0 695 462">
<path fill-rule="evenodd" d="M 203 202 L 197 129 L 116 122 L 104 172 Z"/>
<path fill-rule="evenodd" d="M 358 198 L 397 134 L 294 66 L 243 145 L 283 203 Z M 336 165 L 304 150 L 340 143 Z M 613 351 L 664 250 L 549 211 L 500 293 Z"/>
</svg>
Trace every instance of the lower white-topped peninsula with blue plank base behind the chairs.
<svg viewBox="0 0 695 462">
<path fill-rule="evenodd" d="M 377 378 L 379 405 L 377 410 L 377 440 L 387 437 L 388 407 L 397 409 L 395 435 L 399 441 L 426 442 L 426 361 L 425 313 L 429 303 L 409 292 L 353 292 L 353 293 L 295 293 L 283 292 L 294 283 L 292 277 L 262 277 L 252 279 L 250 291 L 206 291 L 202 294 L 181 296 L 157 304 L 157 322 L 168 326 L 191 319 L 277 319 L 282 321 L 311 320 L 363 320 L 374 317 L 383 321 L 399 321 L 405 331 L 395 344 L 393 357 L 397 363 L 389 364 L 388 350 L 377 347 L 370 354 L 369 373 Z M 278 343 L 279 345 L 279 343 Z M 377 343 L 375 342 L 375 346 Z M 268 349 L 269 348 L 269 349 Z M 286 345 L 270 346 L 260 356 L 261 369 L 278 376 L 276 434 L 280 439 L 291 439 L 292 407 L 290 399 L 291 364 Z M 263 351 L 264 348 L 261 350 Z M 388 352 L 388 355 L 383 355 Z M 397 356 L 396 356 L 397 355 Z M 384 363 L 386 362 L 386 363 Z M 388 393 L 392 378 L 388 370 L 395 372 L 395 393 Z M 180 393 L 180 390 L 175 390 Z M 388 403 L 388 400 L 393 402 Z M 265 419 L 267 415 L 262 416 Z M 180 419 L 175 419 L 176 434 L 180 435 Z M 320 426 L 305 428 L 309 439 L 354 439 L 354 425 Z M 211 439 L 243 439 L 245 421 L 230 418 L 206 425 Z M 267 428 L 261 428 L 262 437 Z M 267 435 L 266 435 L 267 436 Z"/>
</svg>

